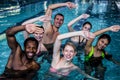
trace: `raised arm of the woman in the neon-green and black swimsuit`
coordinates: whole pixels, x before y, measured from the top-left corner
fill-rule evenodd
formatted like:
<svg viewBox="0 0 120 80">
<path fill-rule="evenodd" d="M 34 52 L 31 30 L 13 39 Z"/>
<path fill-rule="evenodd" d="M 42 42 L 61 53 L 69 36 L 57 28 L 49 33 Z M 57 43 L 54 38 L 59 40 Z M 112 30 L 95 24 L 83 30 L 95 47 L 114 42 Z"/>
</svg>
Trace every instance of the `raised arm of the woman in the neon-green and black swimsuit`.
<svg viewBox="0 0 120 80">
<path fill-rule="evenodd" d="M 104 28 L 102 30 L 98 30 L 96 32 L 94 32 L 94 35 L 95 37 L 104 33 L 104 32 L 107 32 L 107 31 L 113 31 L 113 32 L 117 32 L 120 30 L 120 26 L 119 25 L 114 25 L 114 26 L 111 26 L 111 27 L 108 27 L 108 28 Z M 92 46 L 92 42 L 93 42 L 93 38 L 90 38 L 88 41 L 87 41 L 87 44 L 85 46 L 85 50 L 87 51 L 86 53 L 88 53 L 90 50 L 91 50 L 91 46 Z"/>
</svg>

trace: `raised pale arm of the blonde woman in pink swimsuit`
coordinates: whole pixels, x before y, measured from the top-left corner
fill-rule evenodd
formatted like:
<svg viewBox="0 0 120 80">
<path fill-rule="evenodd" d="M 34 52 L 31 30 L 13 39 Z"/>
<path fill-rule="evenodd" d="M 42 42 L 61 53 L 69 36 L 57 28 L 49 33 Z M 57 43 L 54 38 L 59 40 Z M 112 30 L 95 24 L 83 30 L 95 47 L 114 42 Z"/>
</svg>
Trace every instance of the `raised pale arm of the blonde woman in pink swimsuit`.
<svg viewBox="0 0 120 80">
<path fill-rule="evenodd" d="M 92 33 L 88 32 L 90 35 L 86 35 L 86 32 L 87 31 L 76 31 L 58 35 L 54 43 L 52 65 L 57 64 L 57 62 L 60 60 L 60 46 L 63 39 L 73 36 L 83 36 L 86 39 L 88 39 L 88 37 L 93 37 Z"/>
</svg>

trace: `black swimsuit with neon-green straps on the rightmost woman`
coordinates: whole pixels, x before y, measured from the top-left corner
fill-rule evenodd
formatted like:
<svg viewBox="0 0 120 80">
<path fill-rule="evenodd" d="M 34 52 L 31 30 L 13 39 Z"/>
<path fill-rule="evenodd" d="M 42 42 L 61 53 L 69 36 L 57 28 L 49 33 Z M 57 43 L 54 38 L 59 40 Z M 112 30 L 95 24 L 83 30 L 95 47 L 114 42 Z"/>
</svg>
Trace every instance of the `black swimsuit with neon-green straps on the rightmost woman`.
<svg viewBox="0 0 120 80">
<path fill-rule="evenodd" d="M 94 47 L 92 46 L 92 49 L 88 55 L 85 56 L 85 62 L 84 62 L 84 69 L 85 73 L 91 75 L 91 73 L 94 71 L 93 74 L 95 78 L 98 78 L 99 80 L 104 80 L 104 74 L 106 68 L 102 64 L 103 58 L 105 58 L 104 50 L 101 53 L 100 57 L 94 57 Z"/>
</svg>

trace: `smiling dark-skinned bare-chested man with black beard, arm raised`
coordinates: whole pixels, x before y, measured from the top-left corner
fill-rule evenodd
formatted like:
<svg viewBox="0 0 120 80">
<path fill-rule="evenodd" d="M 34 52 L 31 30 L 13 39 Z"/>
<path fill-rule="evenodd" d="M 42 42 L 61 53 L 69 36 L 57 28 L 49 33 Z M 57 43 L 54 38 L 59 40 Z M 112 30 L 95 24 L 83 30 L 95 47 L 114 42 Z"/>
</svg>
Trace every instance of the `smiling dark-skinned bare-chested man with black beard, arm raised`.
<svg viewBox="0 0 120 80">
<path fill-rule="evenodd" d="M 16 40 L 15 34 L 23 30 L 29 33 L 41 33 L 41 28 L 34 24 L 12 27 L 6 31 L 11 54 L 0 80 L 32 80 L 40 68 L 33 59 L 37 52 L 38 41 L 32 37 L 27 38 L 24 42 L 24 50 L 22 50 Z"/>
</svg>

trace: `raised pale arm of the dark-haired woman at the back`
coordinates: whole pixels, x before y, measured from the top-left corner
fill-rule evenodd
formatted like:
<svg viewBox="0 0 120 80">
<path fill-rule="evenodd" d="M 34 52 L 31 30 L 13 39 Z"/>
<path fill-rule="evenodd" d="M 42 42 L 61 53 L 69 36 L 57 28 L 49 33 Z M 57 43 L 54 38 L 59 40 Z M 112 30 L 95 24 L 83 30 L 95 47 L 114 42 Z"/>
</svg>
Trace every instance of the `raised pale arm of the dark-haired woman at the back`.
<svg viewBox="0 0 120 80">
<path fill-rule="evenodd" d="M 78 22 L 80 19 L 82 19 L 82 18 L 86 19 L 86 18 L 88 18 L 89 16 L 90 16 L 90 15 L 88 15 L 88 14 L 82 14 L 82 15 L 78 16 L 77 18 L 73 19 L 72 21 L 70 21 L 70 22 L 68 23 L 68 30 L 69 30 L 70 32 L 73 32 L 74 29 L 72 28 L 72 25 L 73 25 L 74 23 Z"/>
</svg>

